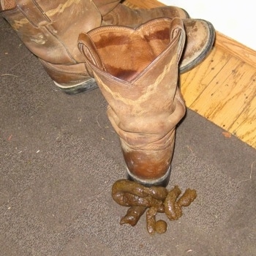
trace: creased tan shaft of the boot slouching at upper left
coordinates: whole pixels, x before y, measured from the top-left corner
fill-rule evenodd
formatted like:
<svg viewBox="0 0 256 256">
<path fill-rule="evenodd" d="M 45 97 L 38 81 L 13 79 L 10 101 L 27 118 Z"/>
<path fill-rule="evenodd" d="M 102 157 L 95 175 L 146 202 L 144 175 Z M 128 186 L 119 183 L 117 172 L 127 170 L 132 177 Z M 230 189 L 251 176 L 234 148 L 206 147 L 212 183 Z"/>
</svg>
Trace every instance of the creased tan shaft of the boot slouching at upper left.
<svg viewBox="0 0 256 256">
<path fill-rule="evenodd" d="M 52 64 L 82 62 L 78 35 L 102 20 L 94 2 L 84 0 L 1 0 L 1 9 L 26 47 Z"/>
</svg>

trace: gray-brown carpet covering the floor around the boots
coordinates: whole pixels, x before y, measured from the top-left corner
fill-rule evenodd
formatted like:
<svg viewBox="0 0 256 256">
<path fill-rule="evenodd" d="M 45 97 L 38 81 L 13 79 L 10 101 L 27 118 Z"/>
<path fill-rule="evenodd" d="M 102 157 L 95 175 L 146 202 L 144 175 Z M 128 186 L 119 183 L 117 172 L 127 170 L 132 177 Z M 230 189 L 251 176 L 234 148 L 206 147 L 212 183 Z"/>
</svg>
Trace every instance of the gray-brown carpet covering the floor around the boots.
<svg viewBox="0 0 256 256">
<path fill-rule="evenodd" d="M 256 255 L 256 151 L 187 110 L 168 188 L 197 199 L 167 232 L 119 225 L 118 137 L 99 89 L 67 95 L 0 20 L 0 255 Z M 182 86 L 182 85 L 181 85 Z"/>
</svg>

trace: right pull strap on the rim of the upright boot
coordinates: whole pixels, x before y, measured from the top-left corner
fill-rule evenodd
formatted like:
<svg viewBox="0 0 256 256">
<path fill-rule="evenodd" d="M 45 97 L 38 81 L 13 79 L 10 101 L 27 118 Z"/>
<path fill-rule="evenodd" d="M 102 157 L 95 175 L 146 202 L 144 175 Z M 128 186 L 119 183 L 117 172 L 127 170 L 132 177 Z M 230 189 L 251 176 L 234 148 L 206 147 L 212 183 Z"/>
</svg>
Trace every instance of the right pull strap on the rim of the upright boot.
<svg viewBox="0 0 256 256">
<path fill-rule="evenodd" d="M 183 21 L 180 18 L 174 18 L 172 20 L 173 27 L 170 31 L 170 37 L 174 38 L 177 36 L 177 34 L 180 34 L 178 39 L 178 54 L 177 54 L 177 61 L 181 60 L 182 53 L 184 52 L 184 46 L 186 41 L 186 32 L 184 29 Z"/>
</svg>

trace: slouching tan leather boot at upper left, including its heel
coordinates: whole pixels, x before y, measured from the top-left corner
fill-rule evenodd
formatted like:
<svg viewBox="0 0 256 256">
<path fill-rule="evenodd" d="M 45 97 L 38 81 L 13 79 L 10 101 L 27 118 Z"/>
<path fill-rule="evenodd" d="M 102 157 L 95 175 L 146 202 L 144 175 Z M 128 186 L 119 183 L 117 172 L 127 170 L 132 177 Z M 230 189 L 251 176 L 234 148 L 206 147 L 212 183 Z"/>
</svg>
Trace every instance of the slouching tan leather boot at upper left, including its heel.
<svg viewBox="0 0 256 256">
<path fill-rule="evenodd" d="M 87 0 L 1 0 L 1 15 L 67 93 L 96 89 L 78 50 L 78 35 L 101 26 L 102 15 Z"/>
</svg>

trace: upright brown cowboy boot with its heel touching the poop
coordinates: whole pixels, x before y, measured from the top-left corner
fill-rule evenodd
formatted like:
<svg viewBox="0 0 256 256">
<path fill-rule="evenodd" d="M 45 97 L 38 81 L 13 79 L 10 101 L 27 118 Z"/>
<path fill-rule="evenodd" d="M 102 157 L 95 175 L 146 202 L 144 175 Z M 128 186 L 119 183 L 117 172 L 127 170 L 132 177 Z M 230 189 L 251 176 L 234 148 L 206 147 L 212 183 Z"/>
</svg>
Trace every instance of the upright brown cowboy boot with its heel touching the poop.
<svg viewBox="0 0 256 256">
<path fill-rule="evenodd" d="M 131 29 L 105 26 L 80 34 L 78 47 L 108 101 L 129 178 L 166 186 L 176 124 L 185 113 L 178 62 L 185 31 L 179 18 Z"/>
</svg>

